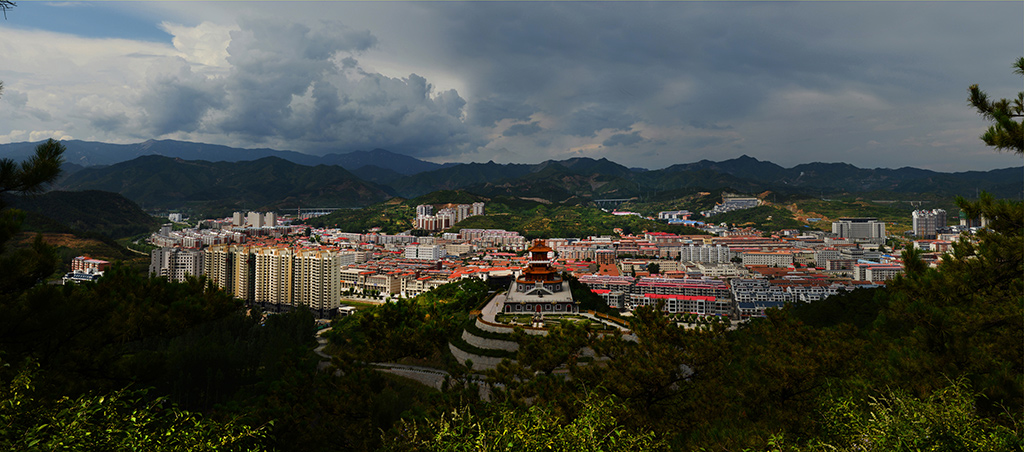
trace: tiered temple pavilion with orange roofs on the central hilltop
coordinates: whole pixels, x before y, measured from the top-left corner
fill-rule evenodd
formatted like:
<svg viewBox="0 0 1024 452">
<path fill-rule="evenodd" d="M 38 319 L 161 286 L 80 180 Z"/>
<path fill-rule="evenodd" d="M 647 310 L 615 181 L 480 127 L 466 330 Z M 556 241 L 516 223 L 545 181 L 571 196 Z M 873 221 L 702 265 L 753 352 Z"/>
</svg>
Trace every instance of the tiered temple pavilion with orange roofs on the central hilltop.
<svg viewBox="0 0 1024 452">
<path fill-rule="evenodd" d="M 538 240 L 534 247 L 527 250 L 529 262 L 522 275 L 512 282 L 505 298 L 502 312 L 538 313 L 538 314 L 573 314 L 580 312 L 579 304 L 572 300 L 569 285 L 551 266 L 551 255 L 554 251 Z"/>
</svg>

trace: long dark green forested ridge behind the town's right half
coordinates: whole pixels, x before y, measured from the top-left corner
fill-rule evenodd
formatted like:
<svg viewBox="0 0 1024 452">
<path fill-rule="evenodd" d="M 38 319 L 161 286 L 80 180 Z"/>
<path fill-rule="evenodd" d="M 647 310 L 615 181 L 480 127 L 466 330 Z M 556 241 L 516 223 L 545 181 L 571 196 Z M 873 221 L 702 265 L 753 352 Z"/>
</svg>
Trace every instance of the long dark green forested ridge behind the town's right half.
<svg viewBox="0 0 1024 452">
<path fill-rule="evenodd" d="M 950 199 L 974 197 L 984 191 L 996 197 L 1019 198 L 1024 170 L 944 173 L 918 168 L 864 169 L 845 163 L 807 163 L 783 168 L 743 156 L 723 162 L 703 160 L 637 171 L 603 159 L 580 158 L 538 165 L 464 164 L 397 178 L 389 184 L 407 198 L 437 190 L 467 190 L 484 196 L 528 193 L 530 197 L 552 202 L 572 196 L 631 198 L 679 189 L 773 191 L 803 196 L 927 193 Z"/>
</svg>

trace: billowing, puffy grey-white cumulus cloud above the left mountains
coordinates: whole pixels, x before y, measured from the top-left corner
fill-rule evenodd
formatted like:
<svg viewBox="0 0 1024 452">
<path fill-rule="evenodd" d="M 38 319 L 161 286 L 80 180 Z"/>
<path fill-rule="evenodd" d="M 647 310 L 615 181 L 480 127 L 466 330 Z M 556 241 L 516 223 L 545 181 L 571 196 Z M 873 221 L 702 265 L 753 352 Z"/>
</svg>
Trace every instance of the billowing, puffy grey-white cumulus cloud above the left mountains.
<svg viewBox="0 0 1024 452">
<path fill-rule="evenodd" d="M 368 73 L 355 55 L 374 47 L 367 31 L 340 24 L 243 23 L 227 47 L 223 78 L 187 66 L 155 67 L 142 95 L 157 134 L 200 132 L 290 149 L 385 148 L 418 156 L 482 146 L 462 122 L 466 100 L 436 92 L 424 77 Z"/>
</svg>

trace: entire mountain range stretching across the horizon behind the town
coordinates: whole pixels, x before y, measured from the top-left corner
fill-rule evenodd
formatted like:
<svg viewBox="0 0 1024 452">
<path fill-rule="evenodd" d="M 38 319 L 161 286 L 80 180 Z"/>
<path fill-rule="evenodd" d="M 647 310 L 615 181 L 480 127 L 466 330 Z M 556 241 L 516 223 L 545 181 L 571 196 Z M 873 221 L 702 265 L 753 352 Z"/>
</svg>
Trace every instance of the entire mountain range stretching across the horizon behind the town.
<svg viewBox="0 0 1024 452">
<path fill-rule="evenodd" d="M 440 190 L 569 204 L 715 190 L 796 197 L 866 193 L 882 197 L 876 199 L 912 199 L 919 194 L 974 198 L 979 191 L 986 191 L 1016 199 L 1024 187 L 1024 171 L 1019 167 L 944 173 L 815 162 L 784 168 L 742 156 L 644 170 L 590 158 L 538 164 L 439 165 L 385 150 L 310 156 L 174 140 L 63 143 L 69 163 L 58 189 L 120 193 L 146 209 L 202 207 L 223 212 L 300 205 L 355 207 Z M 0 157 L 24 159 L 35 145 L 2 145 Z"/>
</svg>

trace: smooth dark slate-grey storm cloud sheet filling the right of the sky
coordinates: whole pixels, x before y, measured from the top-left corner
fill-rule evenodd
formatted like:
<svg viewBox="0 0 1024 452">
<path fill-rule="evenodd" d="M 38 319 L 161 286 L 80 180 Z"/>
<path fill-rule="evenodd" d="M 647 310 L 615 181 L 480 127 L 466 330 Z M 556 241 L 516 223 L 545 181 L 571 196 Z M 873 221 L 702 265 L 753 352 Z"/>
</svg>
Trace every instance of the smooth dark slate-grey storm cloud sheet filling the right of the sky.
<svg viewBox="0 0 1024 452">
<path fill-rule="evenodd" d="M 450 51 L 444 63 L 460 68 L 469 91 L 528 105 L 561 124 L 552 132 L 592 137 L 602 123 L 628 130 L 633 120 L 676 130 L 698 127 L 740 136 L 694 145 L 732 149 L 745 137 L 762 158 L 784 157 L 783 163 L 805 156 L 849 160 L 852 145 L 846 143 L 871 139 L 879 121 L 921 136 L 963 127 L 939 125 L 934 116 L 965 118 L 966 87 L 977 74 L 1005 69 L 1020 53 L 1019 3 L 431 7 L 444 20 L 445 41 L 439 46 Z M 993 19 L 1002 26 L 993 26 Z M 786 102 L 779 105 L 780 98 Z M 861 104 L 845 102 L 857 99 Z M 472 111 L 475 100 L 469 105 Z M 594 111 L 615 111 L 623 120 L 602 121 L 590 114 Z M 851 114 L 858 119 L 843 125 L 843 136 L 820 134 L 797 146 L 775 122 L 784 118 L 807 124 L 801 129 L 826 128 Z M 677 149 L 685 161 L 687 147 Z M 888 158 L 904 159 L 898 164 L 934 156 L 894 151 Z M 629 155 L 617 158 L 626 161 Z"/>
</svg>

